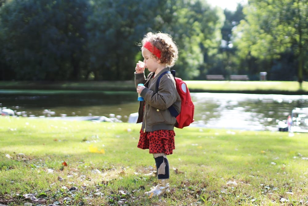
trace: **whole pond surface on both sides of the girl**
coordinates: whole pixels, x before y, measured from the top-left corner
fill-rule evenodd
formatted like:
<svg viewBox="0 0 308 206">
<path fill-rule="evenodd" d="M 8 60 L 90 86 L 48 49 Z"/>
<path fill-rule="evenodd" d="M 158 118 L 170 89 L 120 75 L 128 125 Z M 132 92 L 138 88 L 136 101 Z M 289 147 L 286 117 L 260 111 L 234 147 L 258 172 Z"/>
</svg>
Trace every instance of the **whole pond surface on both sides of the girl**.
<svg viewBox="0 0 308 206">
<path fill-rule="evenodd" d="M 192 126 L 277 130 L 295 107 L 308 107 L 308 95 L 192 93 Z M 75 92 L 48 95 L 0 93 L 0 107 L 18 116 L 106 116 L 128 122 L 138 110 L 136 92 Z"/>
</svg>

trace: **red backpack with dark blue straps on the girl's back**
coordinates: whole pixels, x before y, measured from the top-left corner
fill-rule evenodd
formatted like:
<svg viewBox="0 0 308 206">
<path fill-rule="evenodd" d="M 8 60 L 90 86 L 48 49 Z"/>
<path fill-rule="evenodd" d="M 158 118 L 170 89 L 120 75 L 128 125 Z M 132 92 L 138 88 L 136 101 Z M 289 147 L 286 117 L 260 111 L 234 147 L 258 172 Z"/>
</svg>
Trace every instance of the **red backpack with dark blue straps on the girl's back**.
<svg viewBox="0 0 308 206">
<path fill-rule="evenodd" d="M 160 74 L 160 76 L 157 79 L 157 83 L 156 83 L 156 91 L 158 91 L 160 78 L 164 74 L 172 74 L 173 75 L 173 77 L 175 79 L 176 90 L 179 93 L 180 98 L 181 98 L 181 111 L 180 111 L 180 113 L 178 111 L 176 111 L 176 109 L 173 105 L 171 105 L 168 108 L 171 115 L 176 117 L 177 124 L 175 125 L 175 127 L 177 127 L 177 128 L 187 127 L 187 126 L 189 126 L 190 123 L 195 121 L 193 119 L 195 106 L 194 106 L 192 98 L 190 96 L 188 87 L 187 87 L 186 83 L 181 78 L 175 77 L 175 70 L 171 70 L 171 72 L 165 71 L 162 74 Z"/>
</svg>

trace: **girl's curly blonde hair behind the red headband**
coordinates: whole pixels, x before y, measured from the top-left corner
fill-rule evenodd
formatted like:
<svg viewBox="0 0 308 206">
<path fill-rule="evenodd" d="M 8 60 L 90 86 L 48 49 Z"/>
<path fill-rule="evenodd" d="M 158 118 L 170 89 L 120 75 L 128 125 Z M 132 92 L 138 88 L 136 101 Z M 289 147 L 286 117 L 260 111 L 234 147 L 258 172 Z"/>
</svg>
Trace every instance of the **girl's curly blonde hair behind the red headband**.
<svg viewBox="0 0 308 206">
<path fill-rule="evenodd" d="M 166 33 L 152 33 L 148 32 L 144 35 L 139 46 L 143 46 L 146 42 L 150 42 L 153 46 L 158 48 L 161 52 L 160 62 L 165 63 L 166 66 L 172 67 L 178 58 L 178 48 L 176 43 L 172 40 L 172 36 Z"/>
</svg>

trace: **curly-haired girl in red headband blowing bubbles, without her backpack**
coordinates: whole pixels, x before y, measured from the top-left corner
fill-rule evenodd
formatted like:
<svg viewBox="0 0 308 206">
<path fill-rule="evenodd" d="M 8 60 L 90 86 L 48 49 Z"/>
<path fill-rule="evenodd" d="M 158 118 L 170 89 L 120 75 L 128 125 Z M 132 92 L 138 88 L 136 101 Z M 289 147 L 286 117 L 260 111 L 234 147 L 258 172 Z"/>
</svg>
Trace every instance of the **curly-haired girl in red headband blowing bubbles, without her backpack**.
<svg viewBox="0 0 308 206">
<path fill-rule="evenodd" d="M 137 93 L 144 98 L 140 101 L 137 123 L 142 122 L 138 148 L 149 149 L 156 163 L 158 184 L 146 195 L 159 196 L 169 192 L 169 163 L 167 155 L 175 149 L 174 125 L 176 118 L 170 114 L 168 107 L 172 104 L 180 111 L 181 99 L 176 91 L 172 74 L 164 74 L 156 90 L 157 78 L 169 71 L 178 58 L 178 49 L 172 37 L 165 33 L 147 33 L 141 44 L 144 61 L 136 64 L 135 85 Z M 150 74 L 146 78 L 144 69 Z M 138 84 L 144 86 L 138 86 Z"/>
</svg>

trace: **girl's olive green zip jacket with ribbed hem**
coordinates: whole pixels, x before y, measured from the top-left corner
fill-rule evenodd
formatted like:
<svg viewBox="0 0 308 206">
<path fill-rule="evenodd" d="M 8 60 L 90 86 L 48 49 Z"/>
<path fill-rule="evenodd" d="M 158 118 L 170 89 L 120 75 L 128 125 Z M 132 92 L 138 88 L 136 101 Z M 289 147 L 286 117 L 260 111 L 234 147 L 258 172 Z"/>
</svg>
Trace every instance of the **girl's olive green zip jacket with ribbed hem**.
<svg viewBox="0 0 308 206">
<path fill-rule="evenodd" d="M 135 85 L 142 83 L 146 88 L 141 91 L 144 101 L 140 101 L 138 109 L 137 123 L 142 122 L 144 132 L 166 129 L 173 130 L 176 118 L 170 114 L 168 107 L 172 104 L 177 111 L 181 109 L 180 95 L 177 93 L 175 80 L 172 74 L 164 74 L 159 82 L 158 92 L 156 92 L 156 82 L 160 74 L 169 71 L 165 68 L 154 78 L 154 73 L 150 73 L 148 78 L 144 73 L 135 73 Z"/>
</svg>

